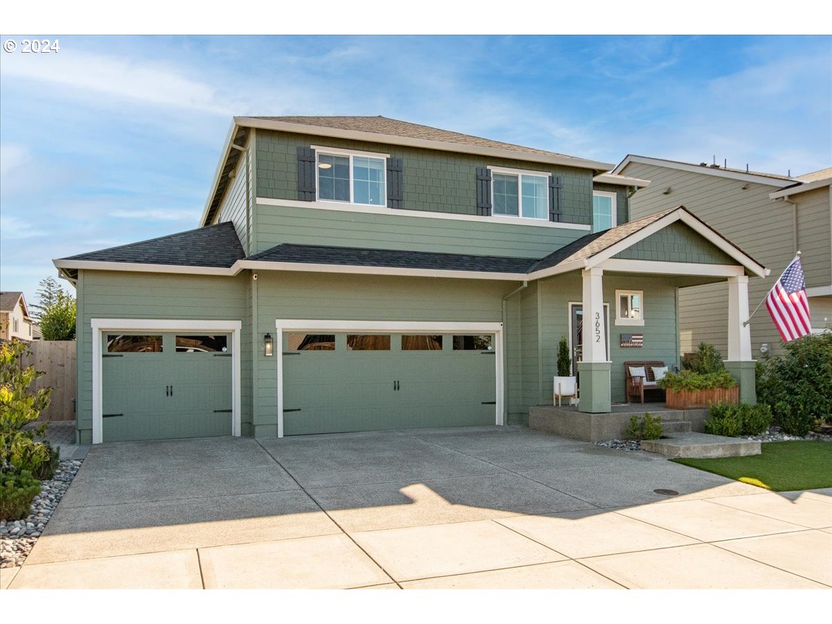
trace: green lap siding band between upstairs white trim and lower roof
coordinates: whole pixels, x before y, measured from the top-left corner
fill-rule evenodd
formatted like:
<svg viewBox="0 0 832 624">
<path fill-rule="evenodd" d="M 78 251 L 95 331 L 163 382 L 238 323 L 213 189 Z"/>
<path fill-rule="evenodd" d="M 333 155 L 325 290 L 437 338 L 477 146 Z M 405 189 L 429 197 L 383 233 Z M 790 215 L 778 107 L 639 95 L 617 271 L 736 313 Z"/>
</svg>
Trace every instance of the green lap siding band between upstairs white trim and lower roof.
<svg viewBox="0 0 832 624">
<path fill-rule="evenodd" d="M 280 243 L 542 258 L 587 230 L 290 206 L 257 208 L 256 251 Z"/>
</svg>

